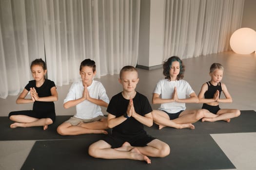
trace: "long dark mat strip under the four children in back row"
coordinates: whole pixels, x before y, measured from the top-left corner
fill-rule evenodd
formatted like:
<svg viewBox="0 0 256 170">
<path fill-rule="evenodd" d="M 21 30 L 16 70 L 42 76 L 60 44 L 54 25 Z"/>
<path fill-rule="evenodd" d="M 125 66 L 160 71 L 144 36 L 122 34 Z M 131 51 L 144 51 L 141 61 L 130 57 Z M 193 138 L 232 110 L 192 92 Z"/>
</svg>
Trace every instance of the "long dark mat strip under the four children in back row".
<svg viewBox="0 0 256 170">
<path fill-rule="evenodd" d="M 57 116 L 56 122 L 43 131 L 42 127 L 30 128 L 15 128 L 11 129 L 12 123 L 7 117 L 0 117 L 0 140 L 53 140 L 53 139 L 79 139 L 89 136 L 98 136 L 94 134 L 86 134 L 79 136 L 60 136 L 56 129 L 57 127 L 69 119 L 71 116 Z M 166 136 L 170 135 L 197 135 L 197 134 L 222 134 L 222 133 L 245 133 L 256 132 L 256 112 L 253 110 L 241 111 L 238 118 L 231 119 L 230 123 L 225 121 L 216 122 L 201 122 L 194 123 L 196 129 L 175 129 L 165 127 L 158 130 L 157 125 L 153 127 L 145 127 L 145 130 L 151 136 Z M 108 130 L 110 132 L 110 130 Z M 102 135 L 103 136 L 103 135 Z"/>
</svg>

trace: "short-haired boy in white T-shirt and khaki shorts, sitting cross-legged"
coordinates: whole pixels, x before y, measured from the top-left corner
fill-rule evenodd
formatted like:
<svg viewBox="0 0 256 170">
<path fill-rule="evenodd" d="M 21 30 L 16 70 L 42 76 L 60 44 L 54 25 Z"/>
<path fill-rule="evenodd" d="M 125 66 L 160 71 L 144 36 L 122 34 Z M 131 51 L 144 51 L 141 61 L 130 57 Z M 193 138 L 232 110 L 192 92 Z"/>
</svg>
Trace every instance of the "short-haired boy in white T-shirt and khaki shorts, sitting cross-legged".
<svg viewBox="0 0 256 170">
<path fill-rule="evenodd" d="M 100 106 L 107 107 L 109 99 L 104 86 L 93 80 L 96 75 L 95 62 L 83 60 L 80 75 L 82 80 L 71 85 L 64 99 L 64 108 L 76 106 L 77 113 L 59 125 L 57 132 L 60 135 L 107 134 L 107 118 Z"/>
</svg>

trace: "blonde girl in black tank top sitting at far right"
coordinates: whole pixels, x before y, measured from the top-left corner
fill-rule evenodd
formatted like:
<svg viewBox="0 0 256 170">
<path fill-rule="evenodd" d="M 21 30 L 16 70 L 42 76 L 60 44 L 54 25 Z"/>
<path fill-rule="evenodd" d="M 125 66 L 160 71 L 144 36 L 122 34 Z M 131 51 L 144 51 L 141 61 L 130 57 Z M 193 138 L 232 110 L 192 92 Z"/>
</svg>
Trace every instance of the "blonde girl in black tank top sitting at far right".
<svg viewBox="0 0 256 170">
<path fill-rule="evenodd" d="M 203 118 L 202 121 L 217 121 L 225 120 L 230 122 L 231 118 L 238 117 L 240 111 L 237 109 L 220 109 L 219 102 L 232 102 L 231 95 L 225 84 L 220 83 L 222 80 L 224 68 L 219 63 L 212 64 L 210 68 L 211 81 L 202 85 L 198 94 L 200 103 L 203 103 L 202 109 L 206 109 L 211 113 L 216 114 L 215 118 Z M 220 99 L 221 91 L 225 95 L 225 99 Z"/>
</svg>

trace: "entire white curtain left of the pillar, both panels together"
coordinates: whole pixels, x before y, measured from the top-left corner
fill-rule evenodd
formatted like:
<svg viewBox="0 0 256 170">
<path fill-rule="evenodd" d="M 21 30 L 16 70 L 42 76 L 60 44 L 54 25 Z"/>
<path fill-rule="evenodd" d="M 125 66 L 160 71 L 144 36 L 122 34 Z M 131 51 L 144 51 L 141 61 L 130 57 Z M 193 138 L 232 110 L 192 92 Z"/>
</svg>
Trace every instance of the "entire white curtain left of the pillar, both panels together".
<svg viewBox="0 0 256 170">
<path fill-rule="evenodd" d="M 0 0 L 0 98 L 24 88 L 36 58 L 57 85 L 79 80 L 85 58 L 98 77 L 136 66 L 139 9 L 140 0 Z"/>
</svg>

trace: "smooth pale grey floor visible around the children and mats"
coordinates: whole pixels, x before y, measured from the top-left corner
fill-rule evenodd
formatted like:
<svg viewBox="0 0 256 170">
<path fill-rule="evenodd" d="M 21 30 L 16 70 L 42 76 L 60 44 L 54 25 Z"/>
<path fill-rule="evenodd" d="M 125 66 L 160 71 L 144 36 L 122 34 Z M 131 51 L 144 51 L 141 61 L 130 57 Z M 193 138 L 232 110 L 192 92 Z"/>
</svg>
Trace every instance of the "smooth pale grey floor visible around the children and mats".
<svg viewBox="0 0 256 170">
<path fill-rule="evenodd" d="M 256 54 L 239 55 L 232 51 L 199 56 L 183 60 L 185 64 L 184 80 L 188 81 L 198 94 L 201 85 L 209 81 L 209 67 L 212 63 L 221 63 L 224 68 L 222 82 L 228 87 L 233 103 L 221 104 L 222 108 L 256 110 Z M 138 69 L 139 84 L 137 91 L 151 101 L 152 91 L 158 80 L 162 79 L 162 69 Z M 118 75 L 107 75 L 97 79 L 105 86 L 109 98 L 121 91 Z M 58 86 L 59 101 L 55 102 L 57 115 L 74 114 L 75 109 L 64 109 L 65 98 L 70 85 Z M 0 99 L 0 116 L 10 111 L 31 109 L 32 104 L 16 104 L 17 96 Z M 153 109 L 158 105 L 152 105 Z M 187 104 L 188 109 L 200 108 L 201 104 Z M 104 114 L 106 109 L 102 108 Z M 232 121 L 231 121 L 232 123 Z M 229 157 L 238 170 L 256 169 L 256 133 L 212 134 L 217 144 Z M 0 170 L 19 170 L 35 141 L 0 141 Z M 15 161 L 13 161 L 15 160 Z"/>
</svg>

